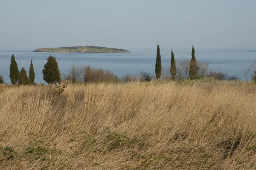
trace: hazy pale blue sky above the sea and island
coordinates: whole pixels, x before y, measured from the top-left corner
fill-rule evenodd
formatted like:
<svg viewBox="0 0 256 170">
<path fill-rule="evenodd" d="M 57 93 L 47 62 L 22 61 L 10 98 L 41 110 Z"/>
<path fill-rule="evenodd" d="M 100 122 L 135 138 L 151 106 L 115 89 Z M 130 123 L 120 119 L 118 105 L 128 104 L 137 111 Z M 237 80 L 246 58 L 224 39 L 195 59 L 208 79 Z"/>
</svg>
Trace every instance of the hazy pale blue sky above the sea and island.
<svg viewBox="0 0 256 170">
<path fill-rule="evenodd" d="M 0 50 L 255 48 L 256 0 L 0 0 Z"/>
</svg>

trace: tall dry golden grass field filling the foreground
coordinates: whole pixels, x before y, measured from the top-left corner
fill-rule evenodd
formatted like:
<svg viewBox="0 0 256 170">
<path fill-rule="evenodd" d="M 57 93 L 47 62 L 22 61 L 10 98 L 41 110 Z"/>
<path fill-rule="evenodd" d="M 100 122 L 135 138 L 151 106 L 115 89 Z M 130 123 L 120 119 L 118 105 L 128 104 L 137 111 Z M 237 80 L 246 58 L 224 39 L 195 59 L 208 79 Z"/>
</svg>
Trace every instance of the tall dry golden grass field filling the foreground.
<svg viewBox="0 0 256 170">
<path fill-rule="evenodd" d="M 0 169 L 256 169 L 256 84 L 0 87 Z"/>
</svg>

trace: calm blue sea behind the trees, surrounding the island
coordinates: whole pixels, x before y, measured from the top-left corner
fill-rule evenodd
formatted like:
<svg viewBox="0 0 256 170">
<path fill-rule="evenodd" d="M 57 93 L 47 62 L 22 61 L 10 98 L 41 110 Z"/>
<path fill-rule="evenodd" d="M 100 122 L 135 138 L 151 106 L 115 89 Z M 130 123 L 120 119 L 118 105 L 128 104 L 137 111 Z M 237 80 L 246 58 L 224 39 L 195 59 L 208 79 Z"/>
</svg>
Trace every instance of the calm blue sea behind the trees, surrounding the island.
<svg viewBox="0 0 256 170">
<path fill-rule="evenodd" d="M 42 53 L 32 51 L 0 51 L 0 75 L 6 84 L 10 83 L 9 68 L 12 54 L 15 55 L 17 65 L 24 67 L 29 74 L 30 59 L 35 70 L 35 82 L 44 82 L 42 70 L 47 57 L 56 57 L 61 74 L 67 74 L 70 67 L 75 65 L 91 65 L 94 68 L 103 68 L 113 71 L 119 77 L 125 74 L 138 74 L 141 71 L 154 74 L 156 49 L 128 49 L 131 53 Z M 171 50 L 163 49 L 161 52 L 162 66 L 170 64 Z M 191 49 L 174 50 L 175 59 L 191 59 Z M 255 66 L 256 49 L 199 49 L 195 57 L 201 62 L 209 62 L 209 68 L 236 75 L 244 79 L 244 70 Z"/>
</svg>

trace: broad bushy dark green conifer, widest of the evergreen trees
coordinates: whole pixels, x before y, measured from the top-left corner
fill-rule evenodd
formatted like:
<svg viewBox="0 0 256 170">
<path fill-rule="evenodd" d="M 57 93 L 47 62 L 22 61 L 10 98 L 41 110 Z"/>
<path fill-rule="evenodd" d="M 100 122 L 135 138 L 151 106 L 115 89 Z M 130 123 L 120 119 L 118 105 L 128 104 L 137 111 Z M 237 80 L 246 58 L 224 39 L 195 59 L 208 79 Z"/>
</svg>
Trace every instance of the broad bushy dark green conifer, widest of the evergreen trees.
<svg viewBox="0 0 256 170">
<path fill-rule="evenodd" d="M 43 79 L 48 84 L 61 81 L 61 74 L 58 69 L 58 62 L 56 61 L 56 58 L 52 55 L 47 58 L 47 63 L 44 65 Z"/>
</svg>

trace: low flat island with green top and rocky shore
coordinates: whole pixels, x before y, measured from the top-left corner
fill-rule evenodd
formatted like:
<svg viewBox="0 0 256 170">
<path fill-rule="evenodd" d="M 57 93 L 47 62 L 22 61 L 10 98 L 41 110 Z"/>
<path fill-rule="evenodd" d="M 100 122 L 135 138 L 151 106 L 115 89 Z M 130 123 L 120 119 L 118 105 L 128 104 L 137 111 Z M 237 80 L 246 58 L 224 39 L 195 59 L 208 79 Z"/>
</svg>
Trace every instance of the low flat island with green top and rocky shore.
<svg viewBox="0 0 256 170">
<path fill-rule="evenodd" d="M 33 52 L 58 52 L 58 53 L 129 53 L 130 51 L 118 48 L 106 48 L 97 46 L 78 46 L 78 47 L 58 47 L 58 48 L 38 48 Z"/>
</svg>

